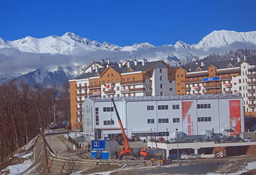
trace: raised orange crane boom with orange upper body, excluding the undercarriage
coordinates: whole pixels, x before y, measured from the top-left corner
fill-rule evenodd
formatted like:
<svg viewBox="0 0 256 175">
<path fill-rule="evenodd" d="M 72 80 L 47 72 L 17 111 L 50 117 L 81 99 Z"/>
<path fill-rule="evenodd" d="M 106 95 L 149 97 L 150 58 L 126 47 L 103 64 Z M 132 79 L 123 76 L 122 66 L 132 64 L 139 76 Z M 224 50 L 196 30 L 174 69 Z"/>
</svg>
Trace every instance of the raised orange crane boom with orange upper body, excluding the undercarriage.
<svg viewBox="0 0 256 175">
<path fill-rule="evenodd" d="M 111 98 L 111 101 L 112 101 L 112 103 L 113 103 L 113 105 L 114 105 L 114 109 L 115 109 L 115 111 L 116 111 L 116 117 L 117 117 L 117 119 L 118 119 L 118 123 L 119 123 L 119 125 L 120 125 L 121 130 L 122 130 L 122 135 L 123 135 L 123 138 L 124 138 L 124 141 L 123 141 L 124 147 L 123 147 L 122 151 L 120 151 L 120 154 L 128 154 L 128 153 L 131 153 L 131 152 L 133 152 L 133 149 L 130 148 L 130 146 L 129 146 L 127 137 L 126 137 L 126 135 L 125 135 L 125 129 L 124 129 L 124 127 L 122 126 L 122 121 L 121 121 L 120 116 L 119 116 L 119 113 L 118 113 L 118 111 L 117 111 L 117 109 L 116 109 L 116 104 L 115 104 L 113 98 Z"/>
</svg>

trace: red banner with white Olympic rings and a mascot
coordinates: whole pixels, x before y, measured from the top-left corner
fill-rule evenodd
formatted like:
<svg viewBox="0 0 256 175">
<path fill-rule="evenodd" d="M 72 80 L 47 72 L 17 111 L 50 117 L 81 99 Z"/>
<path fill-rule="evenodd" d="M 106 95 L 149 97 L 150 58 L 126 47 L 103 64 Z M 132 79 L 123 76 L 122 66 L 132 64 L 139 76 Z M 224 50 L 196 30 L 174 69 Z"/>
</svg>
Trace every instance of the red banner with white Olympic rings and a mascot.
<svg viewBox="0 0 256 175">
<path fill-rule="evenodd" d="M 236 136 L 241 133 L 241 106 L 240 100 L 230 100 L 230 135 Z"/>
</svg>

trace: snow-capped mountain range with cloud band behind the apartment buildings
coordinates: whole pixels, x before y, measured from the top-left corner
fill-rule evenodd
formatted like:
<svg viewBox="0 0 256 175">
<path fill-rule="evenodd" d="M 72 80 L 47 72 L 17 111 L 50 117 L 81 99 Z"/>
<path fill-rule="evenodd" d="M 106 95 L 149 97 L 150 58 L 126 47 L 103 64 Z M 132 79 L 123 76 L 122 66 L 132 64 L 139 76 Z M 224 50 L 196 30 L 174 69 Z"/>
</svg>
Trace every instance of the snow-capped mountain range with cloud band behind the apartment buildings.
<svg viewBox="0 0 256 175">
<path fill-rule="evenodd" d="M 177 41 L 174 45 L 157 47 L 150 43 L 117 46 L 83 38 L 71 32 L 61 37 L 25 37 L 14 41 L 0 38 L 0 83 L 13 77 L 31 84 L 64 83 L 83 74 L 84 68 L 94 59 L 98 61 L 106 57 L 114 58 L 115 61 L 125 61 L 130 56 L 147 58 L 149 61 L 161 59 L 175 65 L 180 61 L 186 63 L 205 57 L 212 52 L 223 54 L 230 49 L 239 48 L 256 49 L 256 31 L 214 31 L 197 44 Z M 8 73 L 9 70 L 15 70 L 15 73 Z"/>
</svg>

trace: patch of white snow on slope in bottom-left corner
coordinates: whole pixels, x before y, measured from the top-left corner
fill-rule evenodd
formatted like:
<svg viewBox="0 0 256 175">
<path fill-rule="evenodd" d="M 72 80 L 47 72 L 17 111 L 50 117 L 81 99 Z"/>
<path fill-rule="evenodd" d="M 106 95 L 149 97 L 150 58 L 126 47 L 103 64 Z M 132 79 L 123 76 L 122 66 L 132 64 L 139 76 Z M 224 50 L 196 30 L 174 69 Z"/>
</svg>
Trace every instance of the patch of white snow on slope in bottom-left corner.
<svg viewBox="0 0 256 175">
<path fill-rule="evenodd" d="M 0 171 L 0 174 L 2 174 L 4 171 L 10 171 L 8 175 L 20 175 L 22 174 L 26 169 L 28 169 L 33 162 L 31 160 L 25 161 L 22 164 L 16 164 L 16 165 L 10 165 L 6 169 L 3 169 Z M 5 175 L 6 173 L 3 173 Z M 7 174 L 6 174 L 7 175 Z"/>
</svg>

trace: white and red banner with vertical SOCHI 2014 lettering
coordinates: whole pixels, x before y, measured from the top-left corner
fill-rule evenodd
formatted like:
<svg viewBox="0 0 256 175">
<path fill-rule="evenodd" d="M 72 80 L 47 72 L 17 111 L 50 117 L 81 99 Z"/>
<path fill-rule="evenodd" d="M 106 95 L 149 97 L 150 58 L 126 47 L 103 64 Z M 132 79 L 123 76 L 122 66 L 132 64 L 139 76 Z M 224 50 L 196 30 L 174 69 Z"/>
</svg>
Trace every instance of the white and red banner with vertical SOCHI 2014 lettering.
<svg viewBox="0 0 256 175">
<path fill-rule="evenodd" d="M 195 110 L 195 101 L 182 101 L 182 127 L 187 135 L 197 135 Z"/>
</svg>

